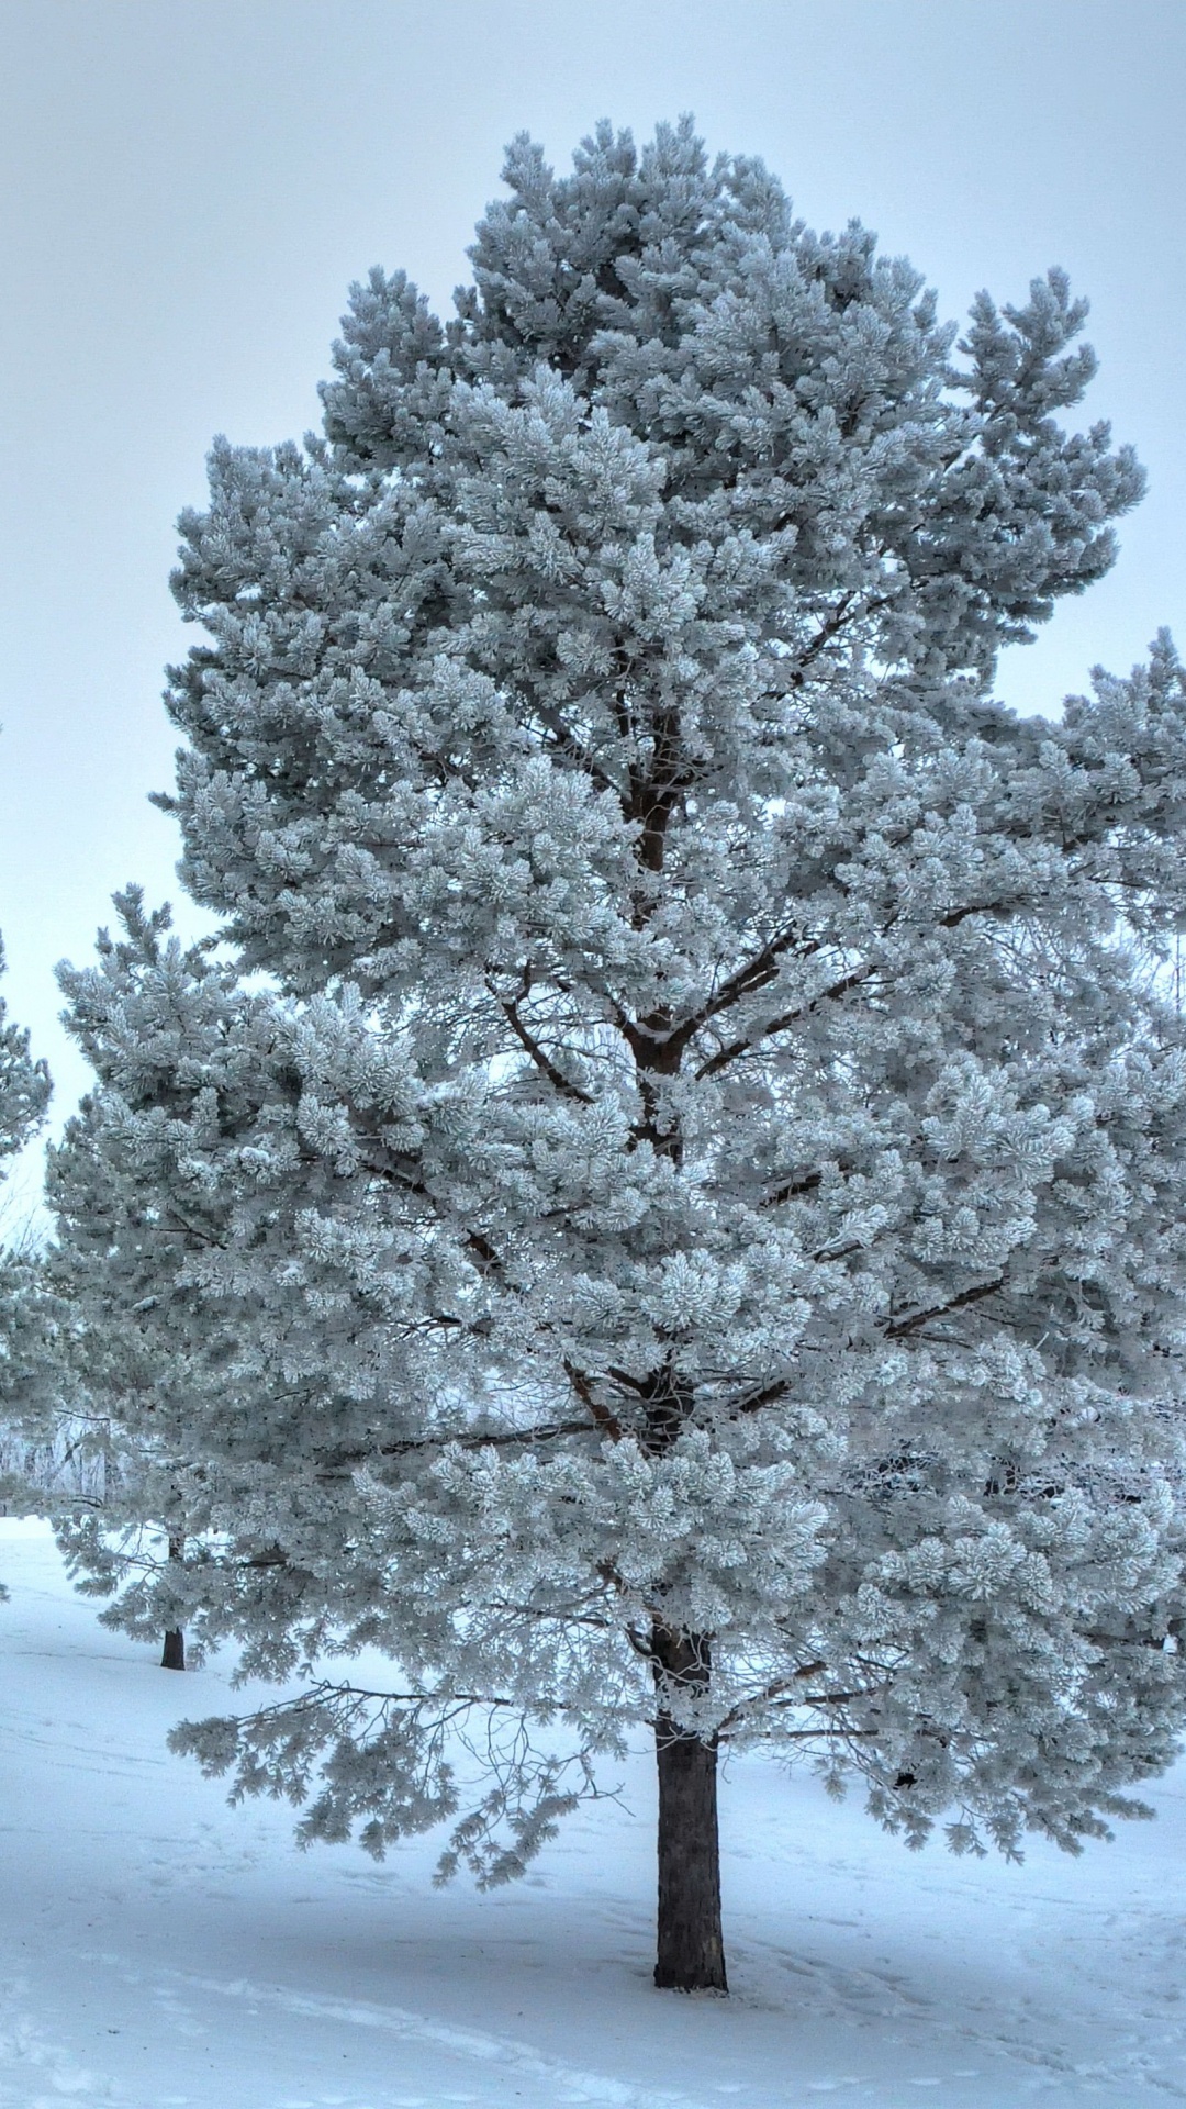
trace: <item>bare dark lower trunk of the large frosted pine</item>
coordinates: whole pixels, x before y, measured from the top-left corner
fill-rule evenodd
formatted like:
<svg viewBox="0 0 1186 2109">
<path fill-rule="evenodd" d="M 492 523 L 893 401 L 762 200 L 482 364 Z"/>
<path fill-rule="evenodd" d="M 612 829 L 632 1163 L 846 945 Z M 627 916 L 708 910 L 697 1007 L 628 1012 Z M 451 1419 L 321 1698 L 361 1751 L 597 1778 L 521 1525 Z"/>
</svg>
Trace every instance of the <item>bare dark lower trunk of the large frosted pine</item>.
<svg viewBox="0 0 1186 2109">
<path fill-rule="evenodd" d="M 707 1683 L 709 1651 L 696 1637 L 656 1630 L 656 1677 Z M 720 1917 L 718 1744 L 656 1715 L 658 1761 L 658 1959 L 663 1991 L 728 1991 Z"/>
</svg>

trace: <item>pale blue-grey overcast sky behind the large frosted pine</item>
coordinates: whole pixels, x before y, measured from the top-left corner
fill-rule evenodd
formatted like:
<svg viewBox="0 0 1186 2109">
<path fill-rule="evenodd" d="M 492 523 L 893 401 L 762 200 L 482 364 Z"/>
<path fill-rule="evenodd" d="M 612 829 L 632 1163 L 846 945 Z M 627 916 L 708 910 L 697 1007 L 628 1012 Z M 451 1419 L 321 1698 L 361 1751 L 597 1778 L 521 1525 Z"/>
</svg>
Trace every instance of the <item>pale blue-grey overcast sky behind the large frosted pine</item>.
<svg viewBox="0 0 1186 2109">
<path fill-rule="evenodd" d="M 812 226 L 876 228 L 948 314 L 1064 264 L 1087 415 L 1150 496 L 1005 660 L 1005 696 L 1057 709 L 1161 622 L 1186 641 L 1184 91 L 1184 0 L 0 0 L 0 928 L 57 1116 L 87 1076 L 55 960 L 127 879 L 175 896 L 146 804 L 188 641 L 175 515 L 213 432 L 314 424 L 352 278 L 405 266 L 447 304 L 515 131 L 566 167 L 599 116 L 682 110 Z"/>
</svg>

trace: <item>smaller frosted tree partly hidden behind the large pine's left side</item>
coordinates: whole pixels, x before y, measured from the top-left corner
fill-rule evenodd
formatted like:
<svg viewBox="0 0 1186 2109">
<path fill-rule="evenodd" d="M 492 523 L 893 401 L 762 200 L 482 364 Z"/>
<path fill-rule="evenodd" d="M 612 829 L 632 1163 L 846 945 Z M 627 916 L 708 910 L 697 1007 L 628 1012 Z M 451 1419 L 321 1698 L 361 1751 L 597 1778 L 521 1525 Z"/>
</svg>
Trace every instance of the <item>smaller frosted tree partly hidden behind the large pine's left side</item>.
<svg viewBox="0 0 1186 2109">
<path fill-rule="evenodd" d="M 101 1499 L 84 1491 L 57 1502 L 55 1523 L 80 1586 L 99 1597 L 120 1588 L 112 1622 L 137 1639 L 162 1632 L 162 1668 L 184 1670 L 186 1544 L 209 1510 L 209 1495 L 194 1491 L 203 1474 L 194 1478 L 188 1462 L 203 1384 L 222 1384 L 228 1352 L 211 1314 L 175 1278 L 181 1249 L 226 1236 L 226 1211 L 177 1219 L 160 1173 L 162 1122 L 137 1124 L 133 1109 L 152 1107 L 156 1092 L 156 1114 L 192 1099 L 192 1061 L 203 1033 L 224 1031 L 232 976 L 211 972 L 200 945 L 171 972 L 169 911 L 146 913 L 139 888 L 118 894 L 116 909 L 120 939 L 99 934 L 99 974 L 63 972 L 76 1000 L 70 1025 L 99 1090 L 49 1152 L 49 1200 L 63 1236 L 46 1255 L 44 1282 L 68 1314 L 53 1358 L 59 1411 L 101 1468 Z M 125 1004 L 146 970 L 139 1000 Z"/>
</svg>

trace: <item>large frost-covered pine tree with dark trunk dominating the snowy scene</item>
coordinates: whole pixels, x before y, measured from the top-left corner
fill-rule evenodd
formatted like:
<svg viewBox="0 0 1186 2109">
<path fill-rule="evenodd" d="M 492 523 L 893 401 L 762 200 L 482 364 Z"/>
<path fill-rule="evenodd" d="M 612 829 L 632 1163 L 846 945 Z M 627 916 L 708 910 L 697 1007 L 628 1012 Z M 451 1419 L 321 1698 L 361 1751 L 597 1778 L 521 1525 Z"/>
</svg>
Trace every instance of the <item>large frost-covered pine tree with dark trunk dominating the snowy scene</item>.
<svg viewBox="0 0 1186 2109">
<path fill-rule="evenodd" d="M 724 1744 L 1005 1850 L 1173 1753 L 1186 683 L 994 700 L 1142 485 L 1059 272 L 954 350 L 688 127 L 506 181 L 184 517 L 236 964 L 68 976 L 63 1253 L 175 1352 L 186 1622 L 314 1670 L 181 1744 L 498 1879 L 646 1723 L 656 1980 L 724 1987 Z"/>
</svg>

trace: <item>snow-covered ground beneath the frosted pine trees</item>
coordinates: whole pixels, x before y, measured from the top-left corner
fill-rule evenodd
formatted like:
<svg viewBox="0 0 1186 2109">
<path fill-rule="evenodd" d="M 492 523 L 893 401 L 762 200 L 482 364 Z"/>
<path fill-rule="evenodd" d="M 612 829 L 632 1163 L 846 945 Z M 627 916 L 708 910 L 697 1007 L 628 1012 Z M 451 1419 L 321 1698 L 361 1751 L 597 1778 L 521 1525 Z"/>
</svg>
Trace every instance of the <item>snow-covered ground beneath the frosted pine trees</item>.
<svg viewBox="0 0 1186 2109">
<path fill-rule="evenodd" d="M 907 1854 L 812 1780 L 724 1786 L 732 1997 L 650 1987 L 652 1780 L 530 1881 L 291 1843 L 165 1750 L 224 1706 L 103 1632 L 0 1523 L 0 2105 L 897 2109 L 1186 2101 L 1186 1767 L 1083 1860 Z"/>
</svg>

